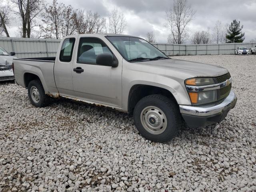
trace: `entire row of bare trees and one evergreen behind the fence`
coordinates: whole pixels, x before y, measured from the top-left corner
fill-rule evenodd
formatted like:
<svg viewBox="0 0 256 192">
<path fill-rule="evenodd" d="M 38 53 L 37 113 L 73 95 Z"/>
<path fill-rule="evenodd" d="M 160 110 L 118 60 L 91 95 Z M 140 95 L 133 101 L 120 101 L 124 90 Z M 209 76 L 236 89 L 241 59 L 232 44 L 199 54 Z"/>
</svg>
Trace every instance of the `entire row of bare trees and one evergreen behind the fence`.
<svg viewBox="0 0 256 192">
<path fill-rule="evenodd" d="M 170 34 L 170 44 L 231 43 L 243 42 L 244 32 L 240 21 L 233 20 L 230 24 L 222 24 L 217 20 L 210 32 L 197 31 L 190 36 L 189 24 L 195 19 L 196 11 L 187 0 L 174 0 L 173 6 L 166 10 L 166 24 Z M 117 8 L 107 16 L 101 16 L 91 10 L 74 9 L 58 0 L 46 4 L 45 0 L 0 0 L 0 36 L 9 37 L 8 27 L 12 20 L 19 21 L 16 36 L 24 38 L 56 38 L 60 39 L 72 34 L 90 33 L 124 33 L 127 22 L 124 14 Z M 154 32 L 146 34 L 148 42 L 156 42 Z M 251 41 L 255 41 L 251 40 Z"/>
</svg>

